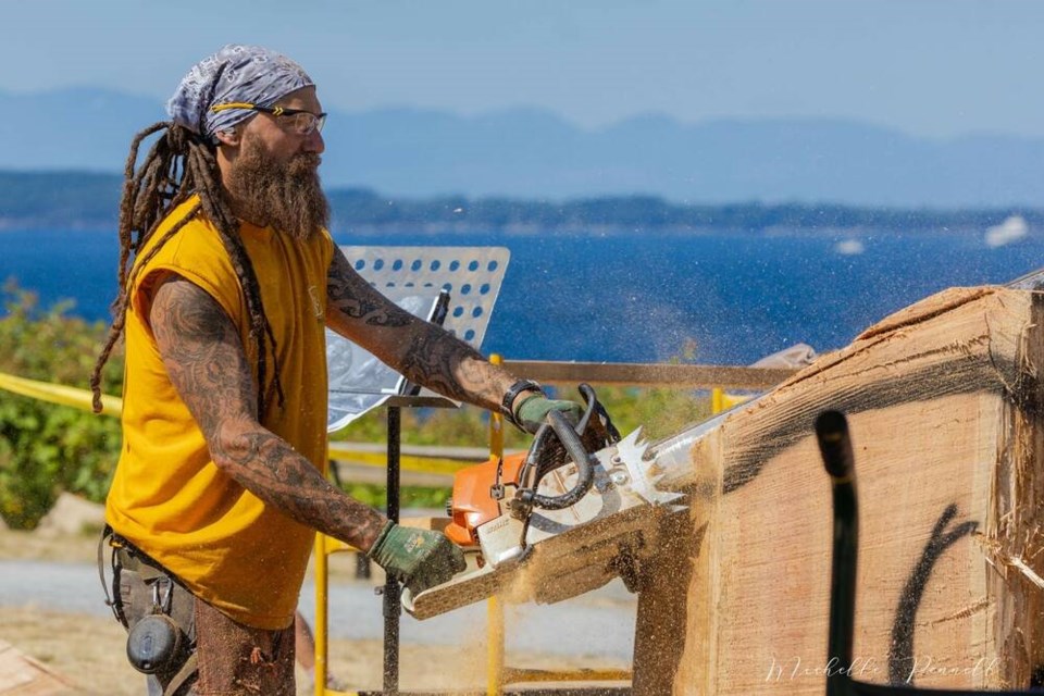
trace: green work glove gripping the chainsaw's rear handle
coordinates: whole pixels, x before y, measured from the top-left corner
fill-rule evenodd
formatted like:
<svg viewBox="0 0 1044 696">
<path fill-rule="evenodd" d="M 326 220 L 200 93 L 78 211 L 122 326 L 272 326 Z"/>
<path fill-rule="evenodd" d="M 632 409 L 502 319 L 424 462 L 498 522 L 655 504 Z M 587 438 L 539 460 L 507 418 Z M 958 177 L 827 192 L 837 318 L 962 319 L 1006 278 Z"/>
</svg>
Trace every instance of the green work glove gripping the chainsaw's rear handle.
<svg viewBox="0 0 1044 696">
<path fill-rule="evenodd" d="M 366 556 L 414 596 L 467 568 L 464 552 L 442 532 L 415 530 L 395 522 L 384 525 Z"/>
</svg>

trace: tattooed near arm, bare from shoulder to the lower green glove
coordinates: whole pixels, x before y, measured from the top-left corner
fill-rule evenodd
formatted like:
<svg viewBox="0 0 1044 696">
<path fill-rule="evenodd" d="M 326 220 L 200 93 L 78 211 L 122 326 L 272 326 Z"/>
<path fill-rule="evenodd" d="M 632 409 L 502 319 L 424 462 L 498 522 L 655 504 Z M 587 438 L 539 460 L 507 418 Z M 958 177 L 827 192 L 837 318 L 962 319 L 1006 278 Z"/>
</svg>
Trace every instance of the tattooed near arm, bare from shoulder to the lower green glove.
<svg viewBox="0 0 1044 696">
<path fill-rule="evenodd" d="M 265 505 L 369 550 L 384 515 L 331 485 L 258 422 L 254 378 L 222 307 L 192 283 L 169 275 L 154 291 L 149 319 L 171 382 L 202 430 L 214 463 Z"/>
</svg>

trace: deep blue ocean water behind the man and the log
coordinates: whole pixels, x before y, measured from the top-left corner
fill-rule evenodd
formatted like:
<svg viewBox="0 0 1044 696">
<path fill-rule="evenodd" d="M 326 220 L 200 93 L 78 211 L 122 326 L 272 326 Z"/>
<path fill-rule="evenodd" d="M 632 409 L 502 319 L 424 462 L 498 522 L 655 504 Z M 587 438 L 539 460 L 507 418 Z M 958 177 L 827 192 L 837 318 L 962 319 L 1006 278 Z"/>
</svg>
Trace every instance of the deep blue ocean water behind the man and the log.
<svg viewBox="0 0 1044 696">
<path fill-rule="evenodd" d="M 511 261 L 484 352 L 530 360 L 747 364 L 798 341 L 840 348 L 934 291 L 1005 283 L 1044 265 L 1044 234 L 991 248 L 982 234 L 336 235 L 339 244 L 506 246 Z M 846 245 L 841 245 L 846 243 Z M 844 251 L 847 251 L 845 253 Z M 114 233 L 0 232 L 0 279 L 45 304 L 108 319 Z"/>
</svg>

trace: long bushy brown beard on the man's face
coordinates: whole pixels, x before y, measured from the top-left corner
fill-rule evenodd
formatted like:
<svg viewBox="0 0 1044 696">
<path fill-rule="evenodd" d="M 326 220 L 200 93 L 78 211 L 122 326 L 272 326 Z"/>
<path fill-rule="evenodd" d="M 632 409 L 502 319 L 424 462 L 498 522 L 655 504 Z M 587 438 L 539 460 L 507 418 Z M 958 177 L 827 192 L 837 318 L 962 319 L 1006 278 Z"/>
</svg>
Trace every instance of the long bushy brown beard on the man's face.
<svg viewBox="0 0 1044 696">
<path fill-rule="evenodd" d="M 319 181 L 319 156 L 273 158 L 260 138 L 245 134 L 225 188 L 236 213 L 254 224 L 268 224 L 306 240 L 330 224 L 330 202 Z"/>
</svg>

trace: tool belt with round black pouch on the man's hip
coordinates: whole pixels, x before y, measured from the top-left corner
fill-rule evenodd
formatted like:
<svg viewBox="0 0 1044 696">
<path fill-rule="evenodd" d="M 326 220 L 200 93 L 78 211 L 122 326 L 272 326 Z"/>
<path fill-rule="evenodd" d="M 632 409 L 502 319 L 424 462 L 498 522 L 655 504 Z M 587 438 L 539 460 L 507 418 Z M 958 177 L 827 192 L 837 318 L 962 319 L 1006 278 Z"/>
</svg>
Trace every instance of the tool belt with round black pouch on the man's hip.
<svg viewBox="0 0 1044 696">
<path fill-rule="evenodd" d="M 110 549 L 111 585 L 105 581 Z M 127 630 L 127 660 L 164 685 L 163 696 L 184 693 L 196 675 L 195 597 L 161 563 L 105 525 L 98 543 L 98 573 L 105 604 Z"/>
</svg>

